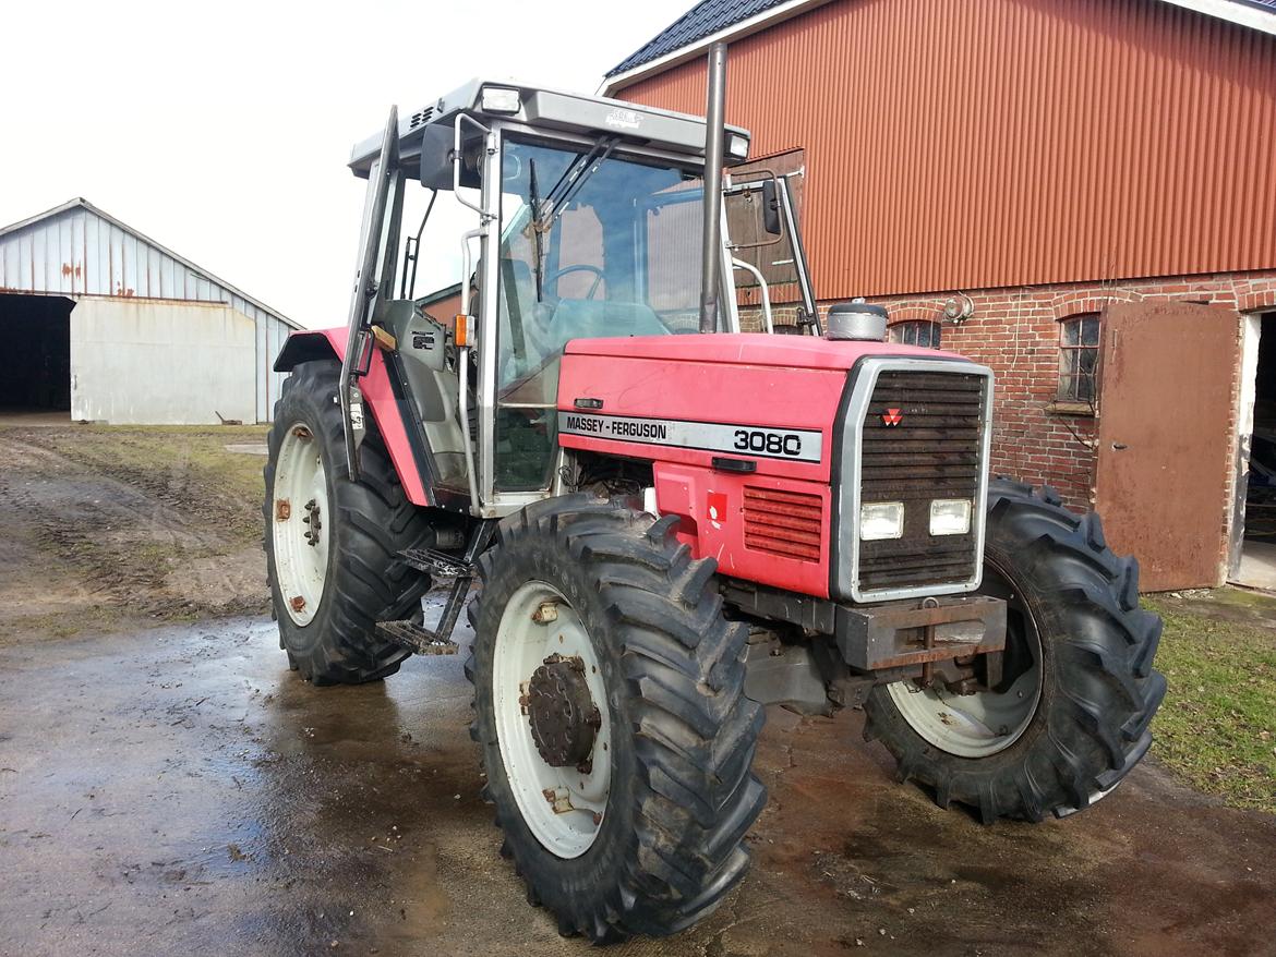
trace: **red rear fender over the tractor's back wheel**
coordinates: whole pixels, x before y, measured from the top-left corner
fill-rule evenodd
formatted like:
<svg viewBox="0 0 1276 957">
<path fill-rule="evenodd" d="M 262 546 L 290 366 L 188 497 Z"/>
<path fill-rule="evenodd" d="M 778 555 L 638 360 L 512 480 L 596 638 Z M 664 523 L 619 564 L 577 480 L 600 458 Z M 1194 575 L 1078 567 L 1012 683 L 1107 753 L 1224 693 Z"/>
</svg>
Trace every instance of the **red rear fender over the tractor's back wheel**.
<svg viewBox="0 0 1276 957">
<path fill-rule="evenodd" d="M 345 355 L 345 328 L 295 332 L 279 350 L 279 356 L 274 360 L 274 371 L 291 373 L 301 362 L 316 360 L 341 362 Z M 412 450 L 408 422 L 404 421 L 406 410 L 411 410 L 412 404 L 396 398 L 385 369 L 385 357 L 379 348 L 373 350 L 367 375 L 359 380 L 359 388 L 364 393 L 364 404 L 376 422 L 376 431 L 380 433 L 390 453 L 390 462 L 394 463 L 394 471 L 403 484 L 408 501 L 413 505 L 434 505 L 434 496 L 422 477 L 422 466 Z M 336 396 L 333 401 L 337 401 Z"/>
</svg>

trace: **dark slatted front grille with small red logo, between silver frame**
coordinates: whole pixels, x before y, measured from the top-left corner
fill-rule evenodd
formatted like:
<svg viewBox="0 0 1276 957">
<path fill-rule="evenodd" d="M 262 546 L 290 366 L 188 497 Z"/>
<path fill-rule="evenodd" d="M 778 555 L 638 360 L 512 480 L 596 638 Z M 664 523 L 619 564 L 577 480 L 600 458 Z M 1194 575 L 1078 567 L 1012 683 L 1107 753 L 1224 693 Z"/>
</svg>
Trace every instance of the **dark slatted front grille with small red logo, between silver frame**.
<svg viewBox="0 0 1276 957">
<path fill-rule="evenodd" d="M 887 370 L 863 422 L 860 501 L 902 501 L 903 535 L 861 541 L 861 592 L 957 584 L 977 559 L 981 413 L 986 376 L 970 373 Z M 892 413 L 891 410 L 897 410 Z M 898 416 L 896 425 L 888 419 Z M 968 535 L 933 537 L 930 503 L 971 499 Z"/>
</svg>

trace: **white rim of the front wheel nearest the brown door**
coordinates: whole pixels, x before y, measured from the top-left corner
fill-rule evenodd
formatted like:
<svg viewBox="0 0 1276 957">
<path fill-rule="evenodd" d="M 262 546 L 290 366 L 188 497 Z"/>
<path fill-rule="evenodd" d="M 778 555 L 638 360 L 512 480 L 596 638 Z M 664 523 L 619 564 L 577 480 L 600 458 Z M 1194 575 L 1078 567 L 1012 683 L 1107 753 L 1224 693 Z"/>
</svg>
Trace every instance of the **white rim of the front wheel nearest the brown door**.
<svg viewBox="0 0 1276 957">
<path fill-rule="evenodd" d="M 1004 575 L 989 568 L 1003 581 Z M 985 581 L 989 574 L 985 573 Z M 1032 665 L 1004 692 L 956 694 L 919 688 L 915 681 L 887 685 L 891 701 L 910 727 L 940 750 L 960 758 L 986 758 L 1014 744 L 1036 715 L 1041 701 L 1041 639 L 1028 609 L 1005 590 L 1011 609 L 1018 612 L 1022 641 L 1028 643 Z M 1012 635 L 1007 634 L 1007 642 Z"/>
</svg>

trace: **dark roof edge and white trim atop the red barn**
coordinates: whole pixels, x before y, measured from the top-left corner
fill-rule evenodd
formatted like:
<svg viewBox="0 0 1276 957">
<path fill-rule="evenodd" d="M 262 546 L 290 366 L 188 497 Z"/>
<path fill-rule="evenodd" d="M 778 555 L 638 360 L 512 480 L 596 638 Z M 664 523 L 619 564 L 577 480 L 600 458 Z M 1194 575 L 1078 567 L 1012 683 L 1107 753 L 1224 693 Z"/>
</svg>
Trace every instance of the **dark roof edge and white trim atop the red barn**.
<svg viewBox="0 0 1276 957">
<path fill-rule="evenodd" d="M 1276 32 L 1276 0 L 1161 0 L 1176 6 L 1187 6 L 1211 17 L 1240 23 L 1242 26 L 1258 26 L 1253 17 L 1245 13 L 1258 11 L 1259 19 L 1266 20 L 1267 13 L 1273 15 L 1272 23 L 1266 29 L 1268 33 Z M 684 47 L 712 37 L 716 33 L 730 32 L 732 27 L 744 24 L 746 20 L 759 18 L 762 20 L 778 19 L 789 8 L 809 8 L 817 4 L 798 4 L 794 0 L 702 0 L 690 10 L 684 13 L 656 37 L 627 56 L 619 64 L 607 70 L 606 75 L 616 77 L 628 73 L 643 64 L 652 63 L 670 54 L 675 54 Z M 771 17 L 762 14 L 771 13 Z"/>
</svg>

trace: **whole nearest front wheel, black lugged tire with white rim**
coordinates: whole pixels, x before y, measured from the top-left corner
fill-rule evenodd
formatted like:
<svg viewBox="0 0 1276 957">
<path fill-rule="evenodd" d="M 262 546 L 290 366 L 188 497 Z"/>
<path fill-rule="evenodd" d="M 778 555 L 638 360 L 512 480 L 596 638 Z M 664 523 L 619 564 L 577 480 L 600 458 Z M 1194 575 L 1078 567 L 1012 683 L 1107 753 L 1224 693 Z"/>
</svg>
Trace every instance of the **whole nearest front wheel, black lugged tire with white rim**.
<svg viewBox="0 0 1276 957">
<path fill-rule="evenodd" d="M 722 618 L 716 563 L 693 561 L 675 527 L 587 495 L 537 503 L 501 522 L 470 609 L 471 735 L 501 852 L 561 934 L 595 943 L 709 914 L 766 803 L 746 633 Z M 553 721 L 558 738 L 533 730 Z"/>
</svg>

